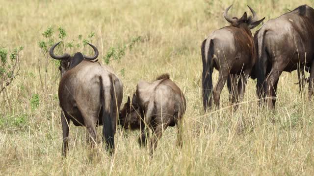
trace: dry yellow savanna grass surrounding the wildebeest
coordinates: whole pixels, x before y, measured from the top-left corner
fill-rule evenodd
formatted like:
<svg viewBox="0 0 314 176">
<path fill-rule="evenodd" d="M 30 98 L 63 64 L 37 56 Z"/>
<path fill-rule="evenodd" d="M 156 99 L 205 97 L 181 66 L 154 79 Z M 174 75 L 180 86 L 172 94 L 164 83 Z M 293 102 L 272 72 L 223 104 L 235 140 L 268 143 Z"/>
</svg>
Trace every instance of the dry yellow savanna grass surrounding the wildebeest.
<svg viewBox="0 0 314 176">
<path fill-rule="evenodd" d="M 222 109 L 204 115 L 200 46 L 211 31 L 227 25 L 222 11 L 232 3 L 231 15 L 249 12 L 249 4 L 265 22 L 287 8 L 314 5 L 313 0 L 0 0 L 0 45 L 24 46 L 20 75 L 0 94 L 0 174 L 313 175 L 314 106 L 293 84 L 296 72 L 281 76 L 274 111 L 258 107 L 256 81 L 250 79 L 240 110 L 233 113 L 225 88 Z M 176 130 L 169 128 L 150 159 L 137 144 L 139 132 L 119 128 L 114 157 L 99 144 L 91 158 L 85 129 L 71 125 L 69 155 L 62 160 L 60 74 L 57 62 L 39 47 L 47 44 L 42 33 L 49 26 L 54 41 L 66 31 L 60 37 L 72 54 L 90 53 L 82 45 L 86 41 L 99 48 L 100 62 L 112 66 L 124 84 L 123 103 L 140 79 L 168 72 L 187 99 L 183 148 L 176 147 Z M 215 82 L 216 71 L 213 77 Z"/>
</svg>

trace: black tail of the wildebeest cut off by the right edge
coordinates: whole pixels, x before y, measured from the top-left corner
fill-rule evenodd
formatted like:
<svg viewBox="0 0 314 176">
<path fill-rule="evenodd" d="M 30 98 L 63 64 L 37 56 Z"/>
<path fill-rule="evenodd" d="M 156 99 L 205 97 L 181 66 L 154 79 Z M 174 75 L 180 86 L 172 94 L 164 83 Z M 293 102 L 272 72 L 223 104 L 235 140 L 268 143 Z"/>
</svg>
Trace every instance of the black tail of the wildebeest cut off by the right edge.
<svg viewBox="0 0 314 176">
<path fill-rule="evenodd" d="M 264 96 L 264 90 L 265 90 L 265 84 L 264 81 L 266 79 L 266 75 L 264 70 L 265 65 L 264 62 L 268 62 L 267 60 L 267 53 L 264 45 L 266 30 L 260 29 L 255 35 L 254 35 L 254 44 L 255 48 L 257 50 L 257 62 L 253 68 L 254 75 L 257 78 L 257 84 L 256 84 L 256 93 L 259 98 L 262 98 Z M 266 59 L 266 60 L 264 60 Z"/>
</svg>

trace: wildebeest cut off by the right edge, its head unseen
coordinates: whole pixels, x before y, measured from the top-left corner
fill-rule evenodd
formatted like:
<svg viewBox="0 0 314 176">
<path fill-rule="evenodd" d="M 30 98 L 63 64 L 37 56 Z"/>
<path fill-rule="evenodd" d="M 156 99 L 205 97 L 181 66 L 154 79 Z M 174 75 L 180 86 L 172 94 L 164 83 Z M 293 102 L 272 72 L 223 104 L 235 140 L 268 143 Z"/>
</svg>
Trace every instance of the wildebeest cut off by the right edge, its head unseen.
<svg viewBox="0 0 314 176">
<path fill-rule="evenodd" d="M 257 94 L 259 98 L 271 97 L 268 107 L 272 109 L 276 103 L 281 73 L 296 70 L 298 66 L 301 69 L 312 68 L 314 9 L 308 5 L 301 5 L 291 12 L 269 20 L 255 33 L 254 42 L 258 52 L 258 61 L 254 69 L 258 80 Z M 310 75 L 309 98 L 313 94 L 314 69 L 311 69 Z"/>
</svg>

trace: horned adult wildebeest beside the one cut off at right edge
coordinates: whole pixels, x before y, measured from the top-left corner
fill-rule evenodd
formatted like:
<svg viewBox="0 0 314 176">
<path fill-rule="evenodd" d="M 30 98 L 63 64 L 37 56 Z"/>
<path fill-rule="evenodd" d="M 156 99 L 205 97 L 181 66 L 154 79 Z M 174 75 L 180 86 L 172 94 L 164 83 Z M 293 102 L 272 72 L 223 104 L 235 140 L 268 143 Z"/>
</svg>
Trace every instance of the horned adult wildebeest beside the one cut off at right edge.
<svg viewBox="0 0 314 176">
<path fill-rule="evenodd" d="M 231 5 L 232 6 L 232 5 Z M 256 62 L 256 50 L 250 29 L 259 25 L 255 11 L 249 7 L 253 17 L 247 17 L 246 12 L 238 19 L 230 18 L 229 6 L 224 12 L 224 18 L 230 26 L 213 31 L 203 41 L 201 52 L 203 61 L 202 87 L 203 106 L 206 111 L 211 107 L 213 67 L 219 71 L 218 81 L 213 90 L 214 103 L 219 108 L 219 99 L 222 88 L 228 78 L 228 88 L 232 103 L 242 101 L 247 79 Z M 237 106 L 235 106 L 235 109 Z"/>
</svg>

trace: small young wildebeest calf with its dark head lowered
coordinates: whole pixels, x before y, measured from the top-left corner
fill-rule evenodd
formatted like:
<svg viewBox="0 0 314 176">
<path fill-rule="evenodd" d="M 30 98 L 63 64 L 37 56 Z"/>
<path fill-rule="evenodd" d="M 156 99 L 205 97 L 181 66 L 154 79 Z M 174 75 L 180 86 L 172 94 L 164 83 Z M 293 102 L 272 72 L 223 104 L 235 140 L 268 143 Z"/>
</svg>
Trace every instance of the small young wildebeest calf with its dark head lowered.
<svg viewBox="0 0 314 176">
<path fill-rule="evenodd" d="M 185 110 L 186 102 L 183 92 L 170 80 L 168 74 L 163 74 L 153 83 L 140 81 L 137 84 L 132 102 L 128 97 L 127 103 L 120 112 L 120 124 L 125 129 L 140 129 L 139 143 L 141 145 L 146 144 L 147 129 L 151 129 L 153 137 L 150 140 L 150 154 L 153 156 L 157 141 L 168 126 L 177 125 L 178 145 L 182 146 L 182 123 Z"/>
</svg>

